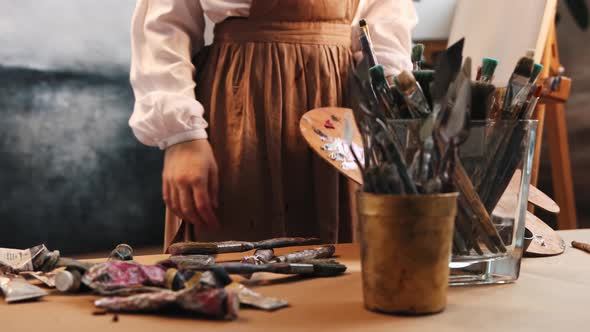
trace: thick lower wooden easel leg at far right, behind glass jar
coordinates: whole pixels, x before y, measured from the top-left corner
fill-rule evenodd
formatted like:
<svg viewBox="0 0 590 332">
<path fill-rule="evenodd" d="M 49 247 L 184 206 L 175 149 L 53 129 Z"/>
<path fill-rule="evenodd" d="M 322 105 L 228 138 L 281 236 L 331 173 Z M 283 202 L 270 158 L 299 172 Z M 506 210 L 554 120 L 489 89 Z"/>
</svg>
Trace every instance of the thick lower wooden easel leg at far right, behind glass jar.
<svg viewBox="0 0 590 332">
<path fill-rule="evenodd" d="M 561 212 L 557 216 L 557 227 L 563 229 L 577 228 L 576 202 L 572 181 L 565 106 L 562 103 L 547 104 L 547 143 L 553 177 L 553 191 Z"/>
</svg>

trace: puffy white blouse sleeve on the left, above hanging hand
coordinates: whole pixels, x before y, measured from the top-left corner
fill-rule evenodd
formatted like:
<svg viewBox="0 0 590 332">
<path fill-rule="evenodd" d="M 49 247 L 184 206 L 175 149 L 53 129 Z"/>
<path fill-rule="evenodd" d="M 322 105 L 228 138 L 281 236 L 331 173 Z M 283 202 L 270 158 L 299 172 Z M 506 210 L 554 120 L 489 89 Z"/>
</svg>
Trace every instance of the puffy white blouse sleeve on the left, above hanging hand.
<svg viewBox="0 0 590 332">
<path fill-rule="evenodd" d="M 205 21 L 195 0 L 138 0 L 132 20 L 129 119 L 146 145 L 206 139 L 203 106 L 195 99 L 192 55 L 204 44 Z"/>
</svg>

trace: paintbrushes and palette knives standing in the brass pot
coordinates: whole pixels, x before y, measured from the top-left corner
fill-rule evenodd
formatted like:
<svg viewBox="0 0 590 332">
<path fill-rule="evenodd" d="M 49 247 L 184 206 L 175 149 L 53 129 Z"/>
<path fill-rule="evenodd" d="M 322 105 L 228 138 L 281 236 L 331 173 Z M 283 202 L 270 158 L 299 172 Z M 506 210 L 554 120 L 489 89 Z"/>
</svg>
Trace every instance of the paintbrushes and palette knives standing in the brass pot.
<svg viewBox="0 0 590 332">
<path fill-rule="evenodd" d="M 364 190 L 377 194 L 455 191 L 452 174 L 471 98 L 469 80 L 458 75 L 462 43 L 449 50 L 444 64 L 446 75 L 434 77 L 429 101 L 410 72 L 402 72 L 389 84 L 374 56 L 366 22 L 361 20 L 361 27 L 365 60 L 353 70 L 351 92 L 364 146 L 364 165 L 359 162 Z M 413 54 L 415 69 L 422 79 L 432 80 L 432 72 L 420 70 L 422 51 L 418 47 Z M 404 118 L 424 120 L 418 151 L 405 151 L 395 133 L 392 121 Z M 413 156 L 408 163 L 409 153 Z"/>
</svg>

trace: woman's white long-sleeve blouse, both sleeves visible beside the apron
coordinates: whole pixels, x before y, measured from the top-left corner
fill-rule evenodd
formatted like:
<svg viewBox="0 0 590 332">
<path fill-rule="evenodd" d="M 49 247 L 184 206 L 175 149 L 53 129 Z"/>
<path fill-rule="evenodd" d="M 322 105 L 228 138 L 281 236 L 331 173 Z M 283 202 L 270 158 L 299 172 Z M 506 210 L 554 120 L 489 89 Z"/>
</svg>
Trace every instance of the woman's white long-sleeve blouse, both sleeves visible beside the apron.
<svg viewBox="0 0 590 332">
<path fill-rule="evenodd" d="M 207 138 L 204 109 L 195 99 L 191 62 L 204 46 L 204 17 L 214 23 L 230 16 L 247 17 L 251 2 L 137 1 L 131 27 L 130 75 L 135 106 L 129 125 L 142 143 L 165 149 Z M 417 17 L 411 0 L 360 0 L 353 26 L 360 18 L 370 23 L 375 53 L 387 75 L 412 68 L 411 30 Z M 353 52 L 359 52 L 354 39 Z"/>
</svg>

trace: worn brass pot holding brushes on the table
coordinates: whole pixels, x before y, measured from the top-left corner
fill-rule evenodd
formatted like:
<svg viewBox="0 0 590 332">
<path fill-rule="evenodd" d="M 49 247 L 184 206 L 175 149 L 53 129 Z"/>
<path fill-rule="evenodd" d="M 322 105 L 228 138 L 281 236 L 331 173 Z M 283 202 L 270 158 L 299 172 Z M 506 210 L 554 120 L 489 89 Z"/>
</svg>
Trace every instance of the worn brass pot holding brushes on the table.
<svg viewBox="0 0 590 332">
<path fill-rule="evenodd" d="M 413 315 L 444 310 L 457 196 L 358 193 L 367 309 Z"/>
</svg>

